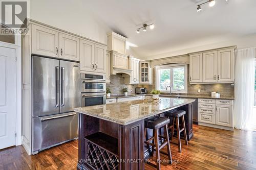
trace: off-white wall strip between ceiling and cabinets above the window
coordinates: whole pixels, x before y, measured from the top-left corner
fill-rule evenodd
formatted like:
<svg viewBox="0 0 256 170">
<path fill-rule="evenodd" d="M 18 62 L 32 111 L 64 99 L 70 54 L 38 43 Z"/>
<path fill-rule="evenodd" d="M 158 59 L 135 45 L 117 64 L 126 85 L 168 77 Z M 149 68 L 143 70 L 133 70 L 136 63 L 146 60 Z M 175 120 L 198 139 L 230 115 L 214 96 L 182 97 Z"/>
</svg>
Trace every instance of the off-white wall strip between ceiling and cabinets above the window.
<svg viewBox="0 0 256 170">
<path fill-rule="evenodd" d="M 238 38 L 230 39 L 229 41 L 223 41 L 223 42 L 218 42 L 214 44 L 206 44 L 203 46 L 196 46 L 191 48 L 185 48 L 183 50 L 168 52 L 164 54 L 158 54 L 158 55 L 149 56 L 149 57 L 141 57 L 141 59 L 153 60 L 153 59 L 160 59 L 160 58 L 166 58 L 166 57 L 174 57 L 174 56 L 185 55 L 188 53 L 194 53 L 194 52 L 210 50 L 210 49 L 220 48 L 225 46 L 232 46 L 232 45 L 237 45 L 238 49 L 254 47 L 256 46 L 256 35 L 238 37 Z"/>
</svg>

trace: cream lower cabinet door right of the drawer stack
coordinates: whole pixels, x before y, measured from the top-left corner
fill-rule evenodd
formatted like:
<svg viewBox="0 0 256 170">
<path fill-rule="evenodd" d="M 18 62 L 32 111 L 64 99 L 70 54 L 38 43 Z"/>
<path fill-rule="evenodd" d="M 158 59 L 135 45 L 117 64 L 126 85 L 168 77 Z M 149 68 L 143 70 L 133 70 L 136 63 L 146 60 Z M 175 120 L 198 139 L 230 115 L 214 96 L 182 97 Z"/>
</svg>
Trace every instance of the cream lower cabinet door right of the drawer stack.
<svg viewBox="0 0 256 170">
<path fill-rule="evenodd" d="M 216 125 L 233 126 L 232 108 L 231 105 L 216 105 Z"/>
</svg>

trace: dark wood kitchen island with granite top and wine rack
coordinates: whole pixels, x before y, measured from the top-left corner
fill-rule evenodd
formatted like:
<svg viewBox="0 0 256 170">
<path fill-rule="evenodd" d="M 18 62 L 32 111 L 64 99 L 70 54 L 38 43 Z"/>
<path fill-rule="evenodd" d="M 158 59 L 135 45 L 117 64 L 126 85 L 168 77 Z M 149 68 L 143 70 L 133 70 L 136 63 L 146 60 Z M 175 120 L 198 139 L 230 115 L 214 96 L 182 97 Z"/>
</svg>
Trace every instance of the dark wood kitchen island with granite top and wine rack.
<svg viewBox="0 0 256 170">
<path fill-rule="evenodd" d="M 194 99 L 159 99 L 75 108 L 79 113 L 77 169 L 144 169 L 145 118 L 179 108 L 186 111 L 186 126 L 192 122 Z M 191 139 L 192 123 L 186 129 Z"/>
</svg>

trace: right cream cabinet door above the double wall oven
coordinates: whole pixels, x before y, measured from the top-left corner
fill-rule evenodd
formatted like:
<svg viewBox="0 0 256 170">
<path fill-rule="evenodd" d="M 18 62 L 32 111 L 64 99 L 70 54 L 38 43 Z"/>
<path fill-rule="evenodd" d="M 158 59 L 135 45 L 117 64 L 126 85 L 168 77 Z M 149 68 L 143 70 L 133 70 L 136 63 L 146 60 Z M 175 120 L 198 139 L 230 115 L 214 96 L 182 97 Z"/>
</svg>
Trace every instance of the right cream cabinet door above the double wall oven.
<svg viewBox="0 0 256 170">
<path fill-rule="evenodd" d="M 106 47 L 94 44 L 94 64 L 96 72 L 106 72 Z"/>
</svg>

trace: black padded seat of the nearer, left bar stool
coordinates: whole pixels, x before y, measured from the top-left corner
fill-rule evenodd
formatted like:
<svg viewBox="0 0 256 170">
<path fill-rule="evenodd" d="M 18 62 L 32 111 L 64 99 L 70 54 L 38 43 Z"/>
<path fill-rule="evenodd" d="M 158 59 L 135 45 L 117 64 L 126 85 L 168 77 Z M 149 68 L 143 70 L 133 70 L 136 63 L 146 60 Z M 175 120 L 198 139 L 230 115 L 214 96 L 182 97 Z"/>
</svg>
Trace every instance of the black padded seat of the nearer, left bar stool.
<svg viewBox="0 0 256 170">
<path fill-rule="evenodd" d="M 169 118 L 155 116 L 155 117 L 150 117 L 145 119 L 144 126 L 145 128 L 148 128 L 148 129 L 160 129 L 169 123 L 170 123 Z"/>
</svg>

